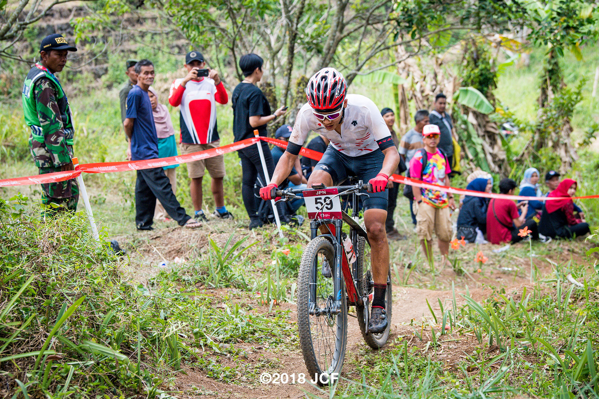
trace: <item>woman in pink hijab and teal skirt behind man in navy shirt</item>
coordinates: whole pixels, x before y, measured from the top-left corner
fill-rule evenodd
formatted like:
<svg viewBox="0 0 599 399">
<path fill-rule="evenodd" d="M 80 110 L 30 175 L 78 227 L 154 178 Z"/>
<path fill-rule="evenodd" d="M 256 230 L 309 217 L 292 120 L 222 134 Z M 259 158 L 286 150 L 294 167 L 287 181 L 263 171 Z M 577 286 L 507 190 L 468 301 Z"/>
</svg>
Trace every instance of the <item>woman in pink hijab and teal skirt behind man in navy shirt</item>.
<svg viewBox="0 0 599 399">
<path fill-rule="evenodd" d="M 177 156 L 177 141 L 175 140 L 175 129 L 171 114 L 168 113 L 166 105 L 158 102 L 158 93 L 154 87 L 148 89 L 150 104 L 152 104 L 152 116 L 154 117 L 154 126 L 156 126 L 156 135 L 158 135 L 158 158 L 167 158 L 168 156 Z M 173 194 L 177 194 L 177 174 L 176 168 L 179 165 L 169 165 L 162 167 L 168 180 L 171 182 Z M 167 221 L 168 213 L 162 206 L 159 200 L 156 200 L 156 208 L 154 209 L 154 219 Z"/>
</svg>

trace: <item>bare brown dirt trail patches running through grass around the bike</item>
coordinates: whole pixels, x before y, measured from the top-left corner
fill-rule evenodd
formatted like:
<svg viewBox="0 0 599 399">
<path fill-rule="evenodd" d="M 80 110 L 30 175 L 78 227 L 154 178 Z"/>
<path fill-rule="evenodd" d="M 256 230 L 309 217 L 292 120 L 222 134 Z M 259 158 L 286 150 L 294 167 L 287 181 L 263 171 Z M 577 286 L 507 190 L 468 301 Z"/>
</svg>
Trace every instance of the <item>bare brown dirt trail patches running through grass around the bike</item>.
<svg viewBox="0 0 599 399">
<path fill-rule="evenodd" d="M 237 227 L 237 229 L 235 229 L 235 227 Z M 221 226 L 219 230 L 212 228 L 211 231 L 198 232 L 177 228 L 165 228 L 159 231 L 153 231 L 151 234 L 137 234 L 132 237 L 120 237 L 120 239 L 126 243 L 134 244 L 135 247 L 137 247 L 131 254 L 132 265 L 128 268 L 128 271 L 135 280 L 143 283 L 158 273 L 160 269 L 155 267 L 155 265 L 160 260 L 171 260 L 174 259 L 175 256 L 179 256 L 180 258 L 186 257 L 187 259 L 198 256 L 199 254 L 204 253 L 208 248 L 208 234 L 210 234 L 210 237 L 213 238 L 217 244 L 222 245 L 233 231 L 236 231 L 239 234 L 239 237 L 248 234 L 247 230 L 242 230 L 240 226 L 231 223 L 229 226 Z M 268 240 L 268 238 L 271 238 L 269 235 L 264 235 L 264 232 L 260 231 L 254 231 L 250 234 L 253 235 L 253 239 L 257 240 Z M 407 241 L 402 241 L 402 243 L 404 247 L 401 249 L 409 251 L 409 243 L 407 243 Z M 273 244 L 276 245 L 274 242 Z M 552 258 L 556 262 L 567 260 L 571 256 L 579 256 L 572 247 L 562 247 L 562 244 L 558 243 L 553 245 L 555 246 L 556 251 L 555 255 L 552 255 Z M 444 268 L 443 270 L 438 271 L 435 277 L 431 277 L 426 270 L 422 270 L 420 271 L 419 276 L 420 283 L 422 284 L 429 281 L 432 286 L 450 287 L 452 281 L 455 281 L 456 300 L 459 305 L 464 303 L 463 298 L 459 294 L 466 292 L 466 285 L 470 287 L 468 290 L 470 296 L 474 300 L 482 301 L 491 294 L 492 289 L 489 288 L 490 286 L 503 287 L 506 289 L 506 292 L 509 292 L 510 289 L 521 287 L 529 282 L 529 276 L 528 273 L 526 273 L 530 268 L 530 264 L 528 263 L 530 262 L 529 259 L 519 258 L 514 254 L 510 254 L 507 258 L 509 258 L 511 268 L 505 268 L 505 257 L 502 258 L 497 256 L 496 258 L 493 258 L 494 255 L 492 255 L 491 249 L 494 247 L 483 247 L 485 253 L 488 253 L 489 258 L 491 258 L 486 265 L 485 272 L 481 274 L 466 273 L 464 276 L 458 277 L 451 268 Z M 270 253 L 265 253 L 261 256 L 270 259 Z M 544 259 L 544 256 L 536 258 L 535 264 L 539 268 L 541 275 L 549 274 L 552 270 L 551 265 Z M 515 270 L 514 267 L 518 268 L 519 271 L 513 271 Z M 226 291 L 226 289 L 223 289 L 223 291 Z M 443 303 L 444 306 L 446 306 L 446 303 L 449 305 L 448 301 L 453 297 L 452 291 L 415 288 L 413 286 L 394 286 L 393 292 L 394 305 L 389 343 L 398 336 L 407 335 L 411 337 L 413 335 L 413 330 L 420 327 L 423 320 L 432 319 L 430 310 L 426 304 L 426 299 L 428 299 L 437 316 L 440 316 L 441 312 L 437 298 L 441 300 L 441 303 Z M 251 300 L 248 299 L 247 301 Z M 290 310 L 291 320 L 297 321 L 295 304 L 284 304 L 282 308 Z M 256 312 L 268 313 L 268 309 L 258 307 Z M 411 327 L 411 323 L 415 327 Z M 447 335 L 444 337 L 447 337 Z M 459 352 L 459 355 L 450 353 L 451 350 L 446 350 L 443 355 L 438 356 L 438 359 L 446 361 L 446 364 L 449 365 L 449 367 L 452 367 L 452 364 L 455 365 L 461 360 L 460 356 L 464 354 L 464 350 L 471 350 L 472 347 L 474 347 L 474 343 L 465 342 L 463 336 L 445 339 L 459 341 L 446 345 L 447 348 L 457 348 L 454 352 Z M 410 339 L 410 342 L 412 342 L 412 339 Z M 426 338 L 423 343 L 419 340 L 413 340 L 412 345 L 420 347 L 425 343 Z M 235 347 L 243 347 L 244 345 L 246 345 L 248 350 L 252 347 L 249 344 L 235 345 Z M 244 349 L 246 349 L 246 347 L 244 347 Z M 350 317 L 348 318 L 346 363 L 343 368 L 344 377 L 359 380 L 361 377 L 360 373 L 357 370 L 353 370 L 353 366 L 348 365 L 347 363 L 348 359 L 354 359 L 355 355 L 364 348 L 367 348 L 367 346 L 359 331 L 358 322 L 355 318 Z M 389 349 L 390 346 L 388 345 L 383 347 L 382 350 Z M 264 347 L 258 347 L 252 350 L 255 352 L 248 356 L 247 362 L 249 362 L 249 364 L 257 365 L 258 362 L 269 359 L 276 365 L 272 370 L 268 370 L 271 373 L 295 374 L 296 376 L 299 373 L 307 373 L 299 346 L 286 350 L 274 350 Z M 219 359 L 219 362 L 224 363 L 226 362 L 226 359 Z M 234 366 L 234 364 L 231 365 Z M 263 385 L 258 381 L 250 381 L 249 379 L 246 382 L 241 375 L 238 376 L 236 381 L 238 383 L 235 384 L 219 382 L 208 377 L 204 371 L 199 368 L 187 368 L 184 369 L 184 372 L 177 374 L 175 389 L 176 391 L 184 392 L 183 394 L 177 395 L 181 398 L 198 397 L 200 395 L 214 395 L 222 398 L 301 398 L 305 396 L 304 390 L 314 395 L 319 394 L 319 391 L 316 388 L 307 383 L 295 385 Z M 322 395 L 323 397 L 328 397 L 328 395 Z"/>
</svg>

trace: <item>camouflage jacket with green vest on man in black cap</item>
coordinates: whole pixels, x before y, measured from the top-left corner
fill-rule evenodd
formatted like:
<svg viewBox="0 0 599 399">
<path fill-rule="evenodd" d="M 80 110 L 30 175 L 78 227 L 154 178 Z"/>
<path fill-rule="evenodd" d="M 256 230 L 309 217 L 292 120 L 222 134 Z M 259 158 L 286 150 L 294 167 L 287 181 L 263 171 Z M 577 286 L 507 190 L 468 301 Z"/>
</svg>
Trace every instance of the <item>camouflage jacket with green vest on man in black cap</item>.
<svg viewBox="0 0 599 399">
<path fill-rule="evenodd" d="M 23 84 L 25 122 L 31 128 L 29 149 L 38 168 L 71 162 L 74 129 L 71 109 L 58 79 L 35 64 Z"/>
</svg>

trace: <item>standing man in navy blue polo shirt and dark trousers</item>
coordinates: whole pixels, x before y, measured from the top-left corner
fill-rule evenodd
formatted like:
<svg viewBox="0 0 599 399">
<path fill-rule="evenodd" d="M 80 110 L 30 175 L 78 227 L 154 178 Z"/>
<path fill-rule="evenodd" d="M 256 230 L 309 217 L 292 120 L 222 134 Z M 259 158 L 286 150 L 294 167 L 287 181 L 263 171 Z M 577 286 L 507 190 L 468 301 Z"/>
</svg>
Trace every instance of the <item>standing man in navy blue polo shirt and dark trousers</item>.
<svg viewBox="0 0 599 399">
<path fill-rule="evenodd" d="M 154 65 L 143 59 L 135 64 L 137 84 L 127 95 L 127 113 L 123 127 L 129 137 L 132 161 L 158 158 L 158 135 L 152 115 L 148 89 L 154 83 Z M 198 228 L 201 223 L 193 220 L 177 201 L 171 182 L 161 167 L 137 171 L 135 182 L 135 225 L 138 230 L 152 230 L 156 199 L 180 226 Z"/>
</svg>

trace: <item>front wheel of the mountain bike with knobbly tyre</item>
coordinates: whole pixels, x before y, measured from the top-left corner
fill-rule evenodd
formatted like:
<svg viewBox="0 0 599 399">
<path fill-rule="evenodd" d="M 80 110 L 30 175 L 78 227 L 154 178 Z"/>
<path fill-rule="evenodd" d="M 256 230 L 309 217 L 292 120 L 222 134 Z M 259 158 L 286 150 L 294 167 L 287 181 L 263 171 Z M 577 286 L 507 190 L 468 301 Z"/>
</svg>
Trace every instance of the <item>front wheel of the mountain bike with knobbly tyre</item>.
<svg viewBox="0 0 599 399">
<path fill-rule="evenodd" d="M 323 275 L 328 262 L 330 277 Z M 306 246 L 298 276 L 299 343 L 311 378 L 319 385 L 334 382 L 341 373 L 347 343 L 347 297 L 341 275 L 341 290 L 335 295 L 335 249 L 324 237 Z M 325 266 L 326 269 L 326 266 Z M 340 298 L 340 308 L 335 300 Z"/>
</svg>

